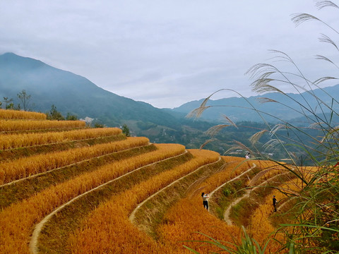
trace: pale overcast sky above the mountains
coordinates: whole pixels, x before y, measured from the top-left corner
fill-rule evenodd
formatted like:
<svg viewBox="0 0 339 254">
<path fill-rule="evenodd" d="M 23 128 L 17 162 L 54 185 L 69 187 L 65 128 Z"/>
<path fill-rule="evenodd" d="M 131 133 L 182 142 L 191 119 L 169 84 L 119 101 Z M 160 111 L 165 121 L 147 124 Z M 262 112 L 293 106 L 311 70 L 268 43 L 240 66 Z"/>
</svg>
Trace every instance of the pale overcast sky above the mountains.
<svg viewBox="0 0 339 254">
<path fill-rule="evenodd" d="M 339 9 L 319 11 L 312 0 L 0 0 L 0 54 L 39 59 L 117 95 L 173 108 L 221 88 L 255 95 L 244 73 L 271 63 L 268 49 L 289 54 L 310 78 L 338 73 L 314 60 L 323 54 L 338 64 L 335 47 L 318 39 L 339 42 L 338 35 L 315 21 L 296 28 L 293 13 L 339 29 Z"/>
</svg>

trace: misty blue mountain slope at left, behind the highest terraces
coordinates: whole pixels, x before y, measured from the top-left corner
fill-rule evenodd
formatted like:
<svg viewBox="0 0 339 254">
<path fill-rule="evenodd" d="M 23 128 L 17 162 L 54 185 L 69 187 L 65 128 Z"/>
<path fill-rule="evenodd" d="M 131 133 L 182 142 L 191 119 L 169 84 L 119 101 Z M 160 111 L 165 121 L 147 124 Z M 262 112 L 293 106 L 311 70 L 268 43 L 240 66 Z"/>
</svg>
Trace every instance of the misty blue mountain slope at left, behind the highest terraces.
<svg viewBox="0 0 339 254">
<path fill-rule="evenodd" d="M 83 118 L 100 119 L 111 124 L 126 120 L 147 121 L 177 128 L 177 119 L 145 102 L 121 97 L 97 87 L 90 80 L 69 71 L 48 66 L 42 61 L 6 53 L 0 56 L 0 97 L 13 98 L 26 90 L 32 95 L 35 111 L 48 111 L 54 104 L 58 111 Z"/>
</svg>

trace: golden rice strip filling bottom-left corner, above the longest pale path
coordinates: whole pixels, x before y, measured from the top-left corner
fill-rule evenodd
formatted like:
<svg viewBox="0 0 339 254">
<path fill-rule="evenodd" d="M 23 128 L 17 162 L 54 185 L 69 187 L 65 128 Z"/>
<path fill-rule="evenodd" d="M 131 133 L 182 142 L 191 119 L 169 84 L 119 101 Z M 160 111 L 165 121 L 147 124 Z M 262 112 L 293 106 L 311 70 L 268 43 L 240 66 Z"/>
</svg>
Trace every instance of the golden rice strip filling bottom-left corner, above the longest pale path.
<svg viewBox="0 0 339 254">
<path fill-rule="evenodd" d="M 52 186 L 0 212 L 0 249 L 3 253 L 30 253 L 32 227 L 56 207 L 92 188 L 161 159 L 184 152 L 182 145 L 156 145 L 158 150 L 107 164 L 99 169 Z M 122 201 L 122 200 L 121 200 Z M 114 211 L 116 213 L 117 211 Z M 105 222 L 109 223 L 109 221 Z M 120 234 L 120 233 L 119 233 Z M 123 234 L 120 234 L 123 236 Z"/>
</svg>

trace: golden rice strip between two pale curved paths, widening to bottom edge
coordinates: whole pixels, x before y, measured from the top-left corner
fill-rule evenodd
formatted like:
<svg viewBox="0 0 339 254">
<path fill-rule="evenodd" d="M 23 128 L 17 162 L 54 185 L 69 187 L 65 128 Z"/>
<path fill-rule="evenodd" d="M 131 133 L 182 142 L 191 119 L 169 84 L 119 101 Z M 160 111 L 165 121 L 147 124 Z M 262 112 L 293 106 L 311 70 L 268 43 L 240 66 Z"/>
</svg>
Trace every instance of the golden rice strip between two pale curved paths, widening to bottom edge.
<svg viewBox="0 0 339 254">
<path fill-rule="evenodd" d="M 136 205 L 153 193 L 161 190 L 176 179 L 189 174 L 204 164 L 215 162 L 219 155 L 207 150 L 189 150 L 194 159 L 178 167 L 164 171 L 133 186 L 128 191 L 113 197 L 109 202 L 100 205 L 84 224 L 71 237 L 71 253 L 91 253 L 96 250 L 105 249 L 112 253 L 171 253 L 170 249 L 160 250 L 157 244 L 150 241 L 148 236 L 138 231 L 129 222 L 129 213 Z M 106 222 L 109 222 L 107 224 Z M 120 232 L 121 237 L 117 237 Z M 85 241 L 85 239 L 87 239 Z M 145 246 L 140 243 L 147 243 Z M 124 246 L 124 250 L 121 249 Z M 134 251 L 133 251 L 134 250 Z"/>
</svg>

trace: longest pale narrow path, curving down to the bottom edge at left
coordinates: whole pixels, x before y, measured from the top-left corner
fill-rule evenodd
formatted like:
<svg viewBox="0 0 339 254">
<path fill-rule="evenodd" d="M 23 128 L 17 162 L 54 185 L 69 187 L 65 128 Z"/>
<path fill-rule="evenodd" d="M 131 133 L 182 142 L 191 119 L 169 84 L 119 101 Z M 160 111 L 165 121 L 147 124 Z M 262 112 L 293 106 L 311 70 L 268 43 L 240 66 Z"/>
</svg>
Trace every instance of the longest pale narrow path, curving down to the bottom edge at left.
<svg viewBox="0 0 339 254">
<path fill-rule="evenodd" d="M 64 203 L 63 205 L 57 207 L 53 212 L 51 212 L 51 213 L 48 214 L 46 217 L 44 217 L 44 219 L 42 219 L 42 221 L 40 221 L 38 224 L 35 224 L 35 228 L 34 228 L 34 230 L 33 230 L 33 232 L 32 232 L 32 237 L 31 237 L 30 243 L 29 243 L 30 253 L 32 253 L 32 254 L 38 254 L 38 253 L 39 253 L 38 239 L 39 239 L 40 232 L 42 231 L 42 228 L 43 228 L 44 224 L 46 224 L 46 223 L 49 221 L 49 219 L 52 218 L 52 216 L 53 216 L 54 214 L 57 214 L 57 212 L 59 212 L 59 211 L 61 211 L 62 209 L 64 209 L 64 207 L 66 207 L 67 205 L 70 205 L 72 202 L 78 200 L 78 198 L 81 198 L 81 197 L 83 197 L 84 195 L 87 195 L 88 193 L 91 193 L 91 192 L 93 192 L 93 191 L 95 191 L 95 190 L 97 190 L 97 189 L 99 189 L 99 188 L 102 188 L 103 186 L 106 186 L 106 185 L 109 184 L 109 183 L 112 183 L 112 182 L 114 182 L 114 181 L 117 181 L 117 180 L 123 178 L 124 176 L 128 176 L 129 174 L 132 174 L 132 173 L 134 173 L 135 171 L 138 171 L 138 170 L 143 169 L 143 168 L 145 168 L 145 167 L 149 167 L 150 165 L 157 164 L 157 163 L 159 163 L 159 162 L 165 162 L 165 161 L 167 161 L 167 160 L 169 160 L 169 159 L 173 159 L 173 158 L 175 158 L 175 157 L 179 157 L 179 156 L 185 155 L 186 153 L 188 153 L 187 150 L 185 150 L 185 151 L 184 151 L 182 154 L 180 154 L 180 155 L 176 155 L 176 156 L 173 156 L 173 157 L 169 157 L 169 158 L 167 158 L 167 159 L 162 159 L 162 160 L 159 160 L 159 161 L 157 161 L 157 162 L 153 162 L 153 163 L 147 164 L 147 165 L 145 165 L 145 166 L 143 166 L 143 167 L 139 167 L 138 169 L 134 169 L 133 171 L 130 171 L 129 173 L 126 173 L 126 174 L 124 174 L 124 175 L 122 175 L 122 176 L 119 176 L 119 177 L 117 177 L 116 179 L 112 179 L 111 181 L 107 181 L 106 183 L 103 183 L 102 185 L 97 186 L 97 187 L 91 189 L 90 191 L 87 191 L 87 192 L 85 192 L 85 193 L 83 193 L 83 194 L 81 194 L 81 195 L 78 195 L 78 196 L 76 196 L 76 198 L 73 198 L 73 199 L 69 200 L 68 202 Z"/>
</svg>

